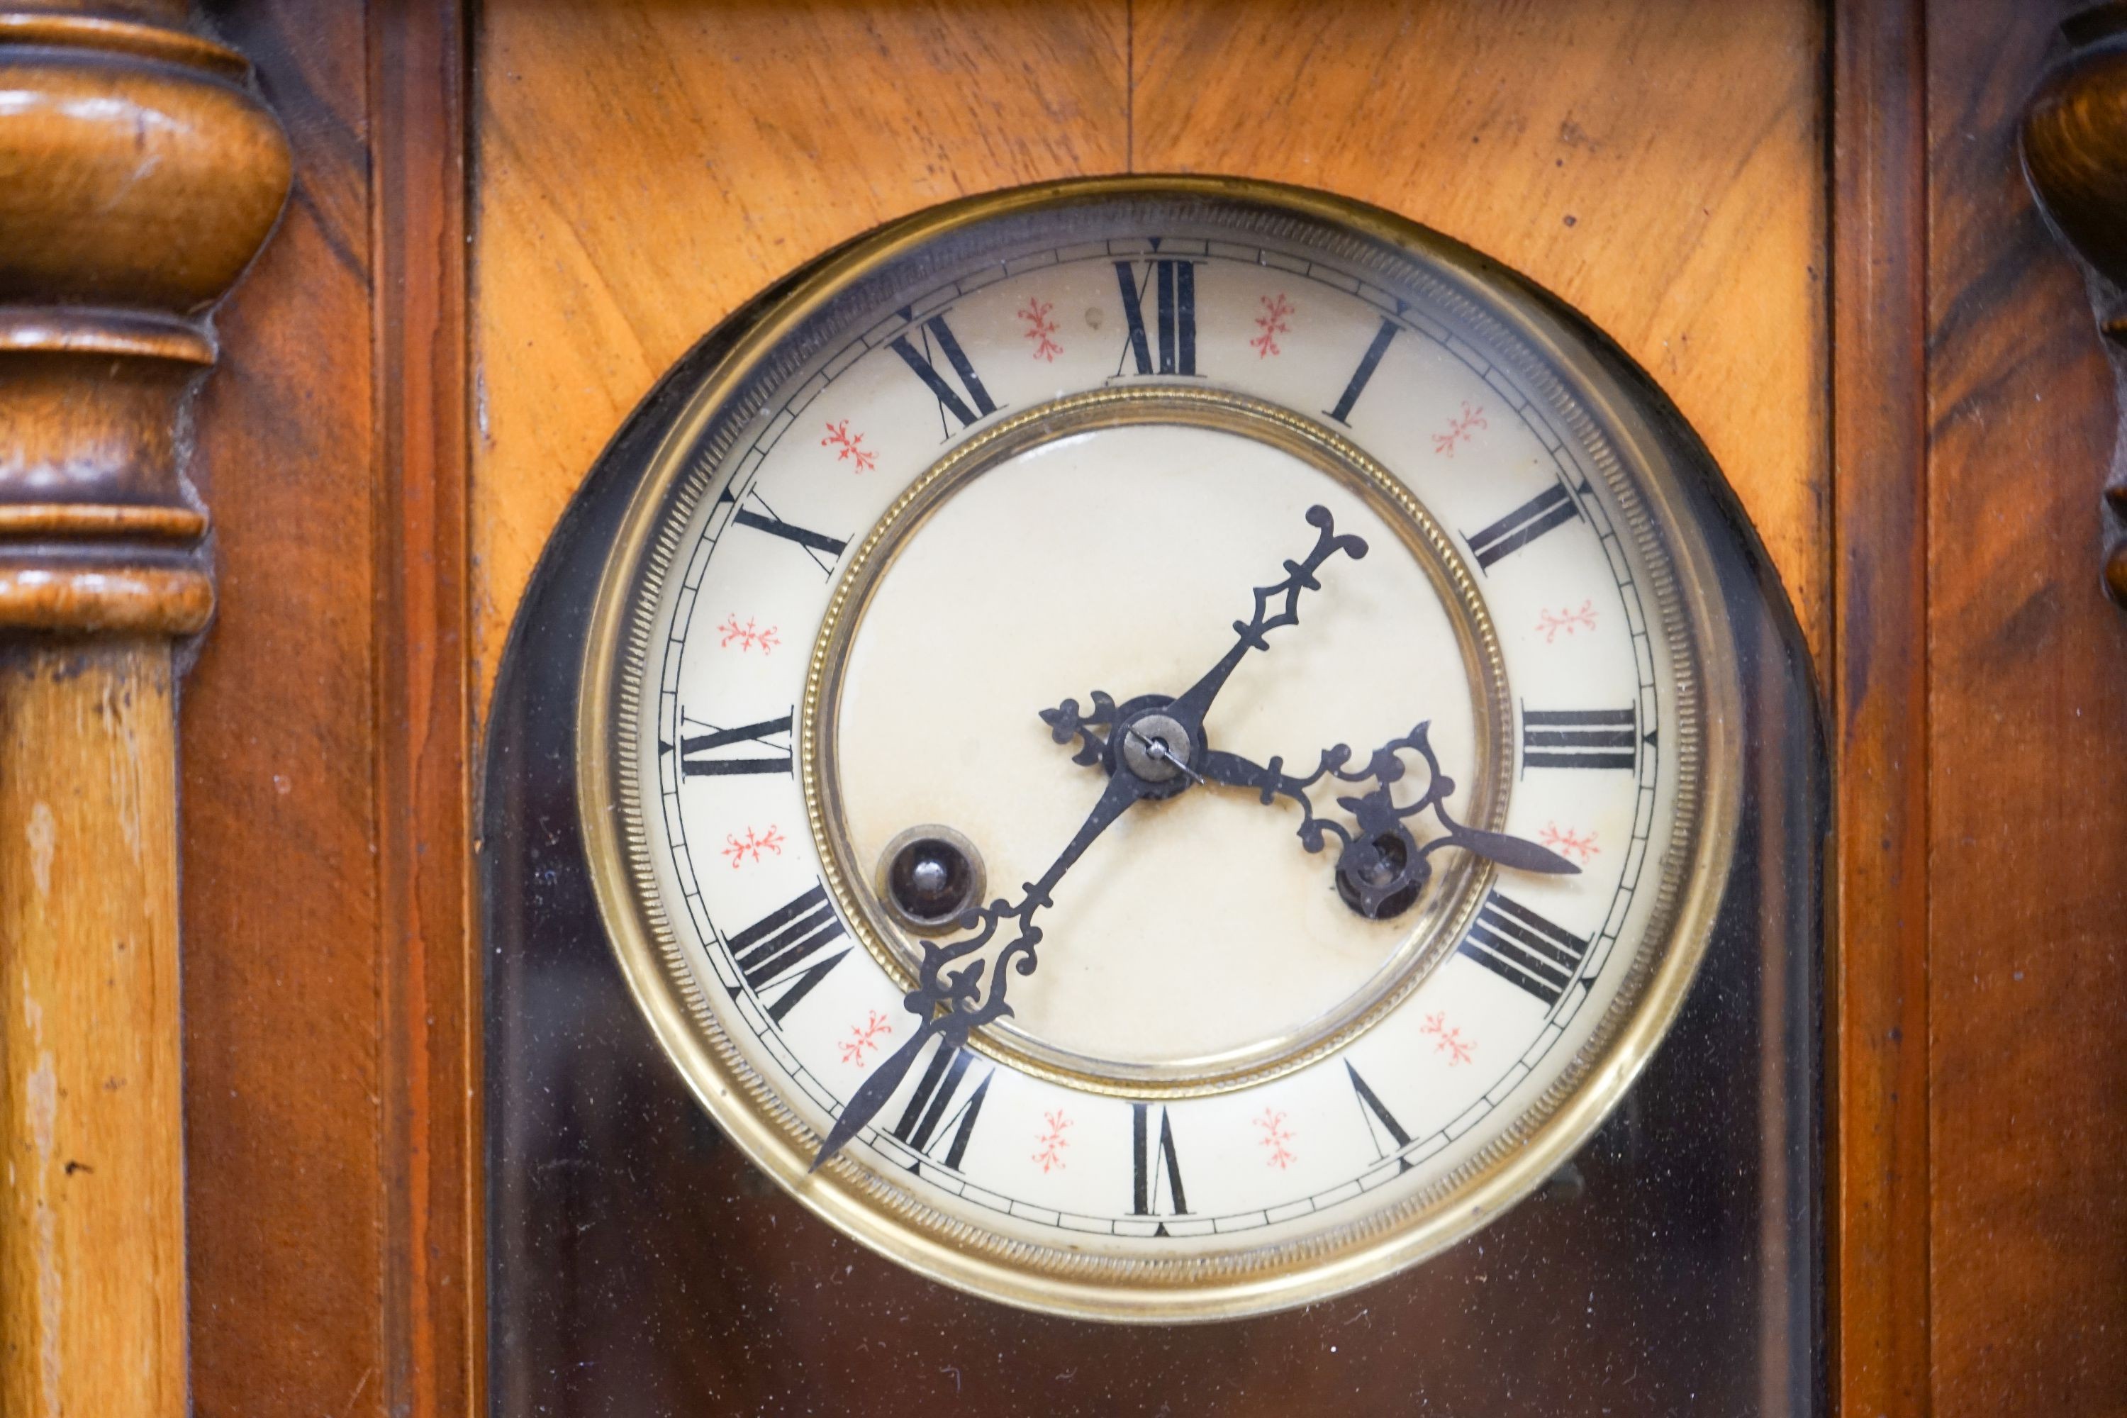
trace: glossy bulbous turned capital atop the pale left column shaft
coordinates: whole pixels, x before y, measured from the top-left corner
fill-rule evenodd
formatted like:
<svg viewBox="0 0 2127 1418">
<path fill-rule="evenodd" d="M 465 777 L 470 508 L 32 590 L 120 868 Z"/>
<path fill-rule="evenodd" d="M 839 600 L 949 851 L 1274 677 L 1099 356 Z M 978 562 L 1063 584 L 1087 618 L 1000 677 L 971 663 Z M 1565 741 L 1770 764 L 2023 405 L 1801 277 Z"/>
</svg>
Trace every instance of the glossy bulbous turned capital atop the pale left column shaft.
<svg viewBox="0 0 2127 1418">
<path fill-rule="evenodd" d="M 0 11 L 0 629 L 206 625 L 179 427 L 289 147 L 183 6 Z"/>
</svg>

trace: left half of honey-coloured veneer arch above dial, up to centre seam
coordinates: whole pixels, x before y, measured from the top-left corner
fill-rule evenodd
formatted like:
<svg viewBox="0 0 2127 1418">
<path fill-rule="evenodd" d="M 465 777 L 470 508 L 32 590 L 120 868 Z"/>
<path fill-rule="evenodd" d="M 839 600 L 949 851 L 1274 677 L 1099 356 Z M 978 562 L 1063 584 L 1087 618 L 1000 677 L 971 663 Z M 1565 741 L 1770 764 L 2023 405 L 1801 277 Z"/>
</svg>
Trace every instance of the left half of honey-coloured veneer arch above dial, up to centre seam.
<svg viewBox="0 0 2127 1418">
<path fill-rule="evenodd" d="M 1125 6 L 530 4 L 481 15 L 474 657 L 621 419 L 819 251 L 1125 166 Z"/>
</svg>

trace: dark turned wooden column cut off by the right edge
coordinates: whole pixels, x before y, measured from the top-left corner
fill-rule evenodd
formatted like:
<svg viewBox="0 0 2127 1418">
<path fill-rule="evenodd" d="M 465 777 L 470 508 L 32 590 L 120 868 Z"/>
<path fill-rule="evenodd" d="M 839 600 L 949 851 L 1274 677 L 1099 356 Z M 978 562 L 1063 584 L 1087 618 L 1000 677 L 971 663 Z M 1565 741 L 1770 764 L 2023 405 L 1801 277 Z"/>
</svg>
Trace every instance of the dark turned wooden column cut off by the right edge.
<svg viewBox="0 0 2127 1418">
<path fill-rule="evenodd" d="M 2040 208 L 2082 261 L 2127 406 L 2127 4 L 2082 11 L 2061 34 L 2067 55 L 2023 119 L 2023 166 Z M 2127 606 L 2127 444 L 2112 451 L 2104 521 L 2106 591 Z"/>
</svg>

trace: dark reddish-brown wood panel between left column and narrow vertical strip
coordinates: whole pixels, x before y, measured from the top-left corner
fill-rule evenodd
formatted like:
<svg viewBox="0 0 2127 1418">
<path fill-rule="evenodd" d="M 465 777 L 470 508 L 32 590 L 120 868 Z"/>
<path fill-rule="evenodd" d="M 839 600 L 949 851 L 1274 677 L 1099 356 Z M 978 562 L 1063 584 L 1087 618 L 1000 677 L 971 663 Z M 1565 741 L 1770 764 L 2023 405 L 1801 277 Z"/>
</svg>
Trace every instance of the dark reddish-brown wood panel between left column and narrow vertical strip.
<svg viewBox="0 0 2127 1418">
<path fill-rule="evenodd" d="M 213 19 L 296 191 L 219 317 L 194 457 L 221 612 L 181 736 L 191 1390 L 215 1418 L 359 1418 L 387 1365 L 364 17 Z"/>
</svg>

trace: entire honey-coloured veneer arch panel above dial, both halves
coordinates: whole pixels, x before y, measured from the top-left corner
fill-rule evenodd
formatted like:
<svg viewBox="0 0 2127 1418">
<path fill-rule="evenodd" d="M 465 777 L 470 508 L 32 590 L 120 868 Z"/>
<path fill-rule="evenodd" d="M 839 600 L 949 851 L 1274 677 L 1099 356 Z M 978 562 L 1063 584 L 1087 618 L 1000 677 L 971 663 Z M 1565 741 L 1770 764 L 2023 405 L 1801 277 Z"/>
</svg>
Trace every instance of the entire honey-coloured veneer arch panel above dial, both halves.
<svg viewBox="0 0 2127 1418">
<path fill-rule="evenodd" d="M 502 2 L 481 26 L 483 702 L 562 504 L 704 330 L 889 217 L 1117 170 L 1342 191 L 1580 304 L 1708 438 L 1823 644 L 1823 51 L 1799 0 Z"/>
</svg>

